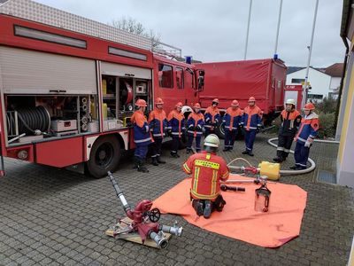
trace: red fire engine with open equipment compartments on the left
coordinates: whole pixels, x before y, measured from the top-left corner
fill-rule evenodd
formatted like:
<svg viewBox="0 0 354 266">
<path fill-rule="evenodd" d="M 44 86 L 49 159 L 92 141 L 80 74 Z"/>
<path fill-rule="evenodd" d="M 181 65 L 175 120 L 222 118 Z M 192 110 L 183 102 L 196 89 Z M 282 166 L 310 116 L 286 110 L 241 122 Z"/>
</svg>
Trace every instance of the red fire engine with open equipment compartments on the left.
<svg viewBox="0 0 354 266">
<path fill-rule="evenodd" d="M 194 67 L 154 56 L 149 39 L 29 0 L 3 1 L 0 25 L 2 160 L 101 177 L 135 147 L 135 99 L 164 98 L 166 112 L 197 99 Z"/>
</svg>

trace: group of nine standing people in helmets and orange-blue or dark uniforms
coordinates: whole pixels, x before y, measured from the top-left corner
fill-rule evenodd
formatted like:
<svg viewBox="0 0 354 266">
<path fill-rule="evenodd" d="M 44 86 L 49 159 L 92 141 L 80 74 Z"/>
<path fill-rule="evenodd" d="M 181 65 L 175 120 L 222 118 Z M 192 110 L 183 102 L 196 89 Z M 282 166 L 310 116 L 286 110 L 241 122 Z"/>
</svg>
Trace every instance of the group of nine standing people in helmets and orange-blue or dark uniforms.
<svg viewBox="0 0 354 266">
<path fill-rule="evenodd" d="M 158 166 L 165 163 L 161 159 L 161 145 L 166 135 L 173 139 L 171 156 L 179 158 L 178 153 L 181 137 L 187 134 L 187 153 L 193 152 L 193 142 L 196 144 L 196 153 L 200 153 L 202 136 L 207 137 L 215 134 L 215 129 L 219 126 L 221 119 L 219 112 L 219 99 L 214 98 L 212 105 L 209 106 L 204 114 L 201 113 L 200 104 L 193 106 L 193 112 L 189 114 L 187 121 L 181 112 L 182 103 L 178 102 L 174 109 L 166 115 L 164 111 L 164 101 L 157 98 L 155 108 L 150 112 L 149 119 L 144 116 L 146 101 L 138 99 L 135 102 L 136 111 L 131 117 L 135 133 L 135 168 L 141 172 L 148 172 L 145 166 L 148 147 L 152 144 L 151 163 Z M 317 136 L 319 129 L 318 115 L 313 112 L 315 107 L 312 103 L 304 106 L 304 118 L 296 110 L 296 103 L 293 99 L 288 99 L 285 109 L 281 112 L 281 127 L 279 130 L 279 142 L 275 162 L 282 162 L 289 156 L 289 150 L 293 140 L 296 141 L 295 166 L 292 169 L 306 168 L 306 162 L 310 153 L 313 139 Z M 260 127 L 262 126 L 262 111 L 256 105 L 256 99 L 250 97 L 248 106 L 243 110 L 237 100 L 233 100 L 231 106 L 227 108 L 222 117 L 225 132 L 224 152 L 232 151 L 234 148 L 235 137 L 238 130 L 243 129 L 245 150 L 242 154 L 254 156 L 253 144 Z"/>
</svg>

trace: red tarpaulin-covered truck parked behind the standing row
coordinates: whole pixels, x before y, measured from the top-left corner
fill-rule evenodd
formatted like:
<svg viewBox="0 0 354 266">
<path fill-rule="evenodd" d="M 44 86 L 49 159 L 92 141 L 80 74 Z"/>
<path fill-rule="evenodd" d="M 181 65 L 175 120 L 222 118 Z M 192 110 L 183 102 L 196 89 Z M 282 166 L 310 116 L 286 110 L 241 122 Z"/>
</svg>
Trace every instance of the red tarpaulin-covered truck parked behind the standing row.
<svg viewBox="0 0 354 266">
<path fill-rule="evenodd" d="M 281 113 L 287 66 L 280 59 L 202 63 L 196 64 L 196 67 L 205 71 L 204 90 L 199 93 L 203 108 L 211 106 L 213 98 L 219 98 L 219 108 L 223 114 L 232 100 L 237 99 L 240 107 L 244 108 L 253 96 L 264 112 L 265 125 Z M 217 133 L 219 137 L 224 135 L 221 123 Z"/>
</svg>

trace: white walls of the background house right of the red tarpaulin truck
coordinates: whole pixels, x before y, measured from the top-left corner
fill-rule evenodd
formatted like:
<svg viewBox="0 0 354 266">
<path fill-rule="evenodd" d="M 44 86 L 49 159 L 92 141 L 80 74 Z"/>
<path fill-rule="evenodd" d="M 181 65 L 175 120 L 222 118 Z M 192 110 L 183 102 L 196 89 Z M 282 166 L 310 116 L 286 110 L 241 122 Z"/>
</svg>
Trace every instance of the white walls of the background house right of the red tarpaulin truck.
<svg viewBox="0 0 354 266">
<path fill-rule="evenodd" d="M 292 83 L 292 79 L 304 79 L 306 75 L 306 68 L 299 71 L 287 74 L 287 85 L 295 85 L 298 83 Z M 309 94 L 322 94 L 323 97 L 328 95 L 328 92 L 333 92 L 329 90 L 329 84 L 331 82 L 331 76 L 324 74 L 316 69 L 310 67 L 308 82 L 312 86 L 312 90 L 309 90 Z"/>
</svg>

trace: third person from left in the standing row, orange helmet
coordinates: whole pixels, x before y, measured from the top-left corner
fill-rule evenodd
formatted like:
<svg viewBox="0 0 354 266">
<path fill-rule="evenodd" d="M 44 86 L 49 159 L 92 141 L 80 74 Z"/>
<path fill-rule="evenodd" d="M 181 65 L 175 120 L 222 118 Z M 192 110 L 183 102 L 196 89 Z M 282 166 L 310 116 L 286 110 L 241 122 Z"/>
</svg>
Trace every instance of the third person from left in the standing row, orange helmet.
<svg viewBox="0 0 354 266">
<path fill-rule="evenodd" d="M 184 114 L 182 111 L 182 103 L 179 102 L 175 106 L 175 108 L 168 114 L 168 130 L 172 135 L 172 148 L 171 148 L 171 156 L 173 158 L 179 158 L 178 148 L 180 146 L 181 137 L 183 131 L 186 129 L 184 126 Z"/>
</svg>

